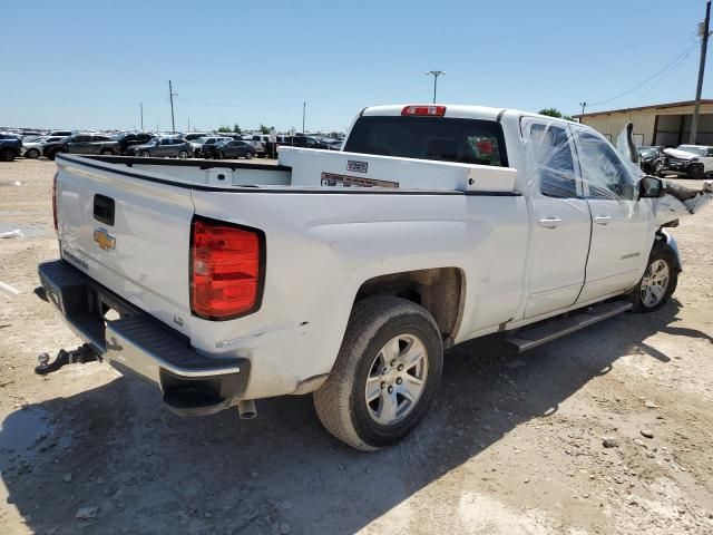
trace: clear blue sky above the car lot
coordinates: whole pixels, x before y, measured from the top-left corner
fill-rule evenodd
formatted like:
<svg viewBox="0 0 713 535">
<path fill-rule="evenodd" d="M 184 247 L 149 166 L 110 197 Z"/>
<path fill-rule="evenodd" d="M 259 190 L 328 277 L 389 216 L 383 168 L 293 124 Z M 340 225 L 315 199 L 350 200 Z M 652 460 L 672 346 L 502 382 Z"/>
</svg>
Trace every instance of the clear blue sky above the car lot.
<svg viewBox="0 0 713 535">
<path fill-rule="evenodd" d="M 3 1 L 0 125 L 138 128 L 143 101 L 145 127 L 170 129 L 172 79 L 180 130 L 188 119 L 193 129 L 301 129 L 303 101 L 309 130 L 345 129 L 363 106 L 430 101 L 430 69 L 447 71 L 441 103 L 574 114 L 582 100 L 603 103 L 590 110 L 687 100 L 704 8 L 704 0 Z M 713 98 L 711 77 L 704 98 Z"/>
</svg>

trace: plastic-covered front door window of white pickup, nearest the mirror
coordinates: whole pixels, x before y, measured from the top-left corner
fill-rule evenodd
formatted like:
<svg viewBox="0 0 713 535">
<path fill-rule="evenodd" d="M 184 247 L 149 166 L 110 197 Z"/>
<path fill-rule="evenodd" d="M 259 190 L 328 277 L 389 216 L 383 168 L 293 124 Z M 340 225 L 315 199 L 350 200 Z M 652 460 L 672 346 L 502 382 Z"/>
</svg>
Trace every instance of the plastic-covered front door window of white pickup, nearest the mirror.
<svg viewBox="0 0 713 535">
<path fill-rule="evenodd" d="M 633 201 L 634 179 L 614 148 L 604 139 L 579 132 L 582 177 L 589 186 L 589 197 Z"/>
</svg>

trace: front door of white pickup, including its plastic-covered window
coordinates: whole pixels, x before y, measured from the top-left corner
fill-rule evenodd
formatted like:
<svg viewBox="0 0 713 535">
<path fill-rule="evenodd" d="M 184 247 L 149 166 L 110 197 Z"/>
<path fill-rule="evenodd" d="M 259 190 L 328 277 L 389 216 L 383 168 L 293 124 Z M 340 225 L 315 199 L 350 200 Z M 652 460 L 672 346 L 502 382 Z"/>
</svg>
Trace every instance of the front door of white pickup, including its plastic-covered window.
<svg viewBox="0 0 713 535">
<path fill-rule="evenodd" d="M 599 134 L 575 127 L 585 195 L 592 211 L 592 244 L 579 302 L 632 288 L 654 241 L 649 205 L 638 201 L 629 165 Z"/>
</svg>

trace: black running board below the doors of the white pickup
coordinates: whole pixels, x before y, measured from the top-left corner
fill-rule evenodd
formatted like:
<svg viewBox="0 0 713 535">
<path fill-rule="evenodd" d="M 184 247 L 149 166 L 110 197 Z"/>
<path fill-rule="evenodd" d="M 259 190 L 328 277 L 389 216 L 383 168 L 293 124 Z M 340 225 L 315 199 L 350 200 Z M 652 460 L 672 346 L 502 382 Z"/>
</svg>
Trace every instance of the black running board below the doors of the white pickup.
<svg viewBox="0 0 713 535">
<path fill-rule="evenodd" d="M 631 310 L 633 304 L 628 301 L 611 301 L 608 303 L 595 304 L 556 320 L 548 320 L 537 327 L 524 328 L 516 334 L 508 337 L 506 341 L 515 346 L 518 352 L 528 351 L 537 346 L 551 340 L 565 337 L 569 333 L 593 325 L 599 321 L 621 314 Z"/>
</svg>

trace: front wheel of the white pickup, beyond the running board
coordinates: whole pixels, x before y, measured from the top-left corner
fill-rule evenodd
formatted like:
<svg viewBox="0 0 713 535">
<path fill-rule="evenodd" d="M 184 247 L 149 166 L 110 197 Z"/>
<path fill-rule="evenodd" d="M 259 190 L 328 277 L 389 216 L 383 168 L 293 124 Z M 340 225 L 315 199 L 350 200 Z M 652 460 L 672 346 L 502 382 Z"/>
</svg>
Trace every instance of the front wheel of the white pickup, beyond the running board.
<svg viewBox="0 0 713 535">
<path fill-rule="evenodd" d="M 634 312 L 653 312 L 661 309 L 673 295 L 678 284 L 678 261 L 673 250 L 656 241 L 648 256 L 644 276 L 632 292 Z"/>
</svg>

